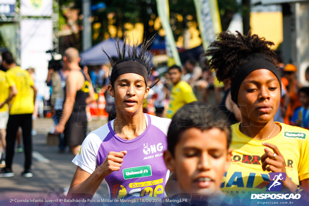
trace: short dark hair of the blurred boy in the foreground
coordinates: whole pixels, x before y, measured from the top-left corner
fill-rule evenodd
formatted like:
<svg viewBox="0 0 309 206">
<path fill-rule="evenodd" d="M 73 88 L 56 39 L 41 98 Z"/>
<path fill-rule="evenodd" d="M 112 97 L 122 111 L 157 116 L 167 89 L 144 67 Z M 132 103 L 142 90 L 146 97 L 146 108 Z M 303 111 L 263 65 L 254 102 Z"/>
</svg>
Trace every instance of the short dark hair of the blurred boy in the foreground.
<svg viewBox="0 0 309 206">
<path fill-rule="evenodd" d="M 167 132 L 167 149 L 174 155 L 175 146 L 184 130 L 197 128 L 201 131 L 218 128 L 226 133 L 227 148 L 231 144 L 231 127 L 227 116 L 218 107 L 210 108 L 202 102 L 191 102 L 185 104 L 175 113 Z"/>
</svg>

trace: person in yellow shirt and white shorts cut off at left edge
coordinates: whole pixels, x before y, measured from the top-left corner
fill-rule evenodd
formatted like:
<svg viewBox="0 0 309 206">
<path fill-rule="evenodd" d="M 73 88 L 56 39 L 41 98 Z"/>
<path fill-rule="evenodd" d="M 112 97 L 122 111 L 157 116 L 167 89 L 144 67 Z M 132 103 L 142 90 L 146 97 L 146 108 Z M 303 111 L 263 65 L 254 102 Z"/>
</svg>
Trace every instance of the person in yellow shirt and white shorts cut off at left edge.
<svg viewBox="0 0 309 206">
<path fill-rule="evenodd" d="M 0 64 L 2 61 L 2 57 L 0 57 Z M 6 73 L 0 70 L 0 104 L 6 100 L 9 96 L 9 87 L 6 81 Z M 9 107 L 5 104 L 2 108 L 0 108 L 0 167 L 5 166 L 5 154 L 6 154 L 6 124 L 9 119 Z M 3 154 L 2 154 L 3 149 Z"/>
</svg>

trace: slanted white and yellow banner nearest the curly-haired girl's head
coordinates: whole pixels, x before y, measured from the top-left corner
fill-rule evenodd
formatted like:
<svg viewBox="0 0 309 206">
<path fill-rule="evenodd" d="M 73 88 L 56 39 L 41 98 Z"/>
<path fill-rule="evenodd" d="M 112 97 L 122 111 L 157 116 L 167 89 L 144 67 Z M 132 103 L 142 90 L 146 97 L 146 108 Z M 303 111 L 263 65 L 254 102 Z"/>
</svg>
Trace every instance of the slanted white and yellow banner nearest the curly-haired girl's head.
<svg viewBox="0 0 309 206">
<path fill-rule="evenodd" d="M 222 30 L 218 2 L 217 0 L 193 1 L 203 48 L 206 50 L 209 44 L 216 39 L 216 34 Z"/>
</svg>

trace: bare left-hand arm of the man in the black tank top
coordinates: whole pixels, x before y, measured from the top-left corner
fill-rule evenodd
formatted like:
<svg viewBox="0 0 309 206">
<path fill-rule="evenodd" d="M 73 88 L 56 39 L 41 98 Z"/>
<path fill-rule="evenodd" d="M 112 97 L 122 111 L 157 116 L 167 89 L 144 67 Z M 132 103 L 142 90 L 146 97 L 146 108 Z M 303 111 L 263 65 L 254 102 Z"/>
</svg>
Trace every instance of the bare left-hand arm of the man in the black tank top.
<svg viewBox="0 0 309 206">
<path fill-rule="evenodd" d="M 66 78 L 66 100 L 63 105 L 61 120 L 55 128 L 56 132 L 62 133 L 64 131 L 66 122 L 69 120 L 72 114 L 75 103 L 75 96 L 78 90 L 78 75 L 79 74 L 77 72 L 72 71 Z"/>
</svg>

